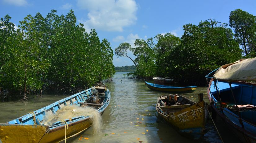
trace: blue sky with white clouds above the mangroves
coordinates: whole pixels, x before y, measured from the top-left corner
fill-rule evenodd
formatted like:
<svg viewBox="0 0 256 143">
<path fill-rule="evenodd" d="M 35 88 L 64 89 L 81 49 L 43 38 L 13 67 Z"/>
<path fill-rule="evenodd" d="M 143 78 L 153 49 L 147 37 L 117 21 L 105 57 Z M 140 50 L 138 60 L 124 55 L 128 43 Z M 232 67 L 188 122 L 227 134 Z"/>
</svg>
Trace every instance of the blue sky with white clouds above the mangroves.
<svg viewBox="0 0 256 143">
<path fill-rule="evenodd" d="M 229 23 L 231 11 L 241 9 L 256 15 L 255 0 L 0 0 L 0 18 L 9 14 L 16 26 L 28 14 L 41 13 L 44 17 L 52 9 L 66 15 L 71 9 L 77 24 L 87 31 L 95 29 L 99 38 L 107 39 L 115 50 L 120 43 L 134 47 L 135 39 L 147 39 L 157 34 L 172 33 L 181 37 L 185 24 L 216 19 Z M 132 52 L 128 55 L 135 59 Z M 115 66 L 133 65 L 127 57 L 113 56 Z"/>
</svg>

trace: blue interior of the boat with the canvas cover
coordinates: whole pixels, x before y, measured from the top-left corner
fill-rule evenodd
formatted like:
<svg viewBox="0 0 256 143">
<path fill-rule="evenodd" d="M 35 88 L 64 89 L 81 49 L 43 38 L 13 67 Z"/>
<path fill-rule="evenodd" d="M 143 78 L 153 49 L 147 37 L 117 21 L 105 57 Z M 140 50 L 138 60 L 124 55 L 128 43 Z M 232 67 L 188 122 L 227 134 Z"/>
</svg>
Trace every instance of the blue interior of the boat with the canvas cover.
<svg viewBox="0 0 256 143">
<path fill-rule="evenodd" d="M 222 113 L 230 119 L 233 119 L 238 125 L 240 125 L 238 121 L 239 116 L 249 123 L 256 124 L 256 85 L 242 82 L 233 82 L 231 84 L 236 103 L 241 108 L 236 108 L 235 100 L 228 82 L 218 81 L 216 82 L 216 86 L 217 90 L 214 86 L 214 82 L 212 82 L 210 96 L 212 98 L 211 100 L 216 103 L 215 105 L 218 109 L 220 109 L 220 106 L 222 107 L 223 110 L 220 110 L 220 112 L 223 111 Z M 220 99 L 218 94 L 220 95 Z M 220 100 L 222 102 L 221 104 Z M 255 126 L 253 130 L 256 131 Z"/>
</svg>

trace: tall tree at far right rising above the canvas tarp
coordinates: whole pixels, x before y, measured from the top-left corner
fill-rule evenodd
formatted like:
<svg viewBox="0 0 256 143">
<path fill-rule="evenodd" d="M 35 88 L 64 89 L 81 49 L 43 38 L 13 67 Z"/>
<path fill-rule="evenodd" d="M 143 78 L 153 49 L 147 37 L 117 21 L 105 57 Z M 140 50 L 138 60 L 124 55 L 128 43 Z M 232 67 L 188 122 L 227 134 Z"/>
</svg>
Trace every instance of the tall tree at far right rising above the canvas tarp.
<svg viewBox="0 0 256 143">
<path fill-rule="evenodd" d="M 245 57 L 256 56 L 256 16 L 237 9 L 231 11 L 229 25 L 235 30 L 235 38 L 243 48 Z"/>
</svg>

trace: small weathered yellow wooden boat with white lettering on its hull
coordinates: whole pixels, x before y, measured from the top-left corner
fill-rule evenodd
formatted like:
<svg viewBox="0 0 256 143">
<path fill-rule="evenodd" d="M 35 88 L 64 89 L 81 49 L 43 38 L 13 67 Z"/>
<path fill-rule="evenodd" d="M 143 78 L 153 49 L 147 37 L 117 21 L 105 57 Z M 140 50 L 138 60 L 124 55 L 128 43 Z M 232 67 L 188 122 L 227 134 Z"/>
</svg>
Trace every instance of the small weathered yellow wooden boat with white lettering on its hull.
<svg viewBox="0 0 256 143">
<path fill-rule="evenodd" d="M 203 96 L 196 103 L 181 95 L 164 95 L 158 98 L 155 108 L 167 123 L 185 137 L 197 140 L 207 133 L 204 126 L 208 112 Z"/>
</svg>

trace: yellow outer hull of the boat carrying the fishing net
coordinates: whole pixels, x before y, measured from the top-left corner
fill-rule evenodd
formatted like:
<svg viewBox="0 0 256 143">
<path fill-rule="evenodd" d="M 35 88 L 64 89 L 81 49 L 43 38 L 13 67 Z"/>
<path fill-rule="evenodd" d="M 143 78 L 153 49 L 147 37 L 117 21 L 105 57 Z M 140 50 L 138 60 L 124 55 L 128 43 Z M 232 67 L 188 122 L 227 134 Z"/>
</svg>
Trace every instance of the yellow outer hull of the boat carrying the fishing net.
<svg viewBox="0 0 256 143">
<path fill-rule="evenodd" d="M 0 124 L 0 138 L 3 143 L 49 143 L 60 142 L 79 135 L 92 126 L 89 118 L 69 124 L 69 129 L 65 131 L 65 125 L 55 129 L 49 129 L 45 125 L 20 125 L 20 124 Z"/>
</svg>

